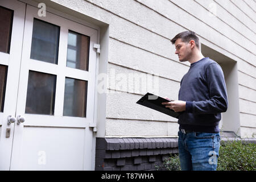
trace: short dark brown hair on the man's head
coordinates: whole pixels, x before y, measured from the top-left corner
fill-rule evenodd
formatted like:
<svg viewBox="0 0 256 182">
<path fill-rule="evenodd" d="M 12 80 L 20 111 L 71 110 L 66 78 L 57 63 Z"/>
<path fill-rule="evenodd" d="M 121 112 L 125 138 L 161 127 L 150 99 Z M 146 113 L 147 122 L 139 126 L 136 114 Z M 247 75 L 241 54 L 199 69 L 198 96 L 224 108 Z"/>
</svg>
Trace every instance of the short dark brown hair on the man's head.
<svg viewBox="0 0 256 182">
<path fill-rule="evenodd" d="M 191 40 L 194 40 L 196 43 L 196 47 L 200 49 L 200 41 L 198 36 L 193 31 L 184 31 L 177 34 L 172 40 L 172 44 L 175 44 L 177 39 L 181 39 L 182 42 L 189 42 Z"/>
</svg>

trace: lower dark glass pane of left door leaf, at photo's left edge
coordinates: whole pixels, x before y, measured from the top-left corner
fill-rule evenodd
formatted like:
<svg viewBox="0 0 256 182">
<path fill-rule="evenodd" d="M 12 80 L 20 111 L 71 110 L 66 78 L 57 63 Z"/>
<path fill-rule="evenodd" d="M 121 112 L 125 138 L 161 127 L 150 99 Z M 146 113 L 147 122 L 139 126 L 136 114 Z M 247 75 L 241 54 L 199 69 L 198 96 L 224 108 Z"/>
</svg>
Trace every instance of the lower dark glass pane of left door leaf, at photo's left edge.
<svg viewBox="0 0 256 182">
<path fill-rule="evenodd" d="M 3 105 L 5 104 L 5 88 L 7 78 L 7 66 L 0 65 L 0 109 L 3 112 Z"/>
</svg>

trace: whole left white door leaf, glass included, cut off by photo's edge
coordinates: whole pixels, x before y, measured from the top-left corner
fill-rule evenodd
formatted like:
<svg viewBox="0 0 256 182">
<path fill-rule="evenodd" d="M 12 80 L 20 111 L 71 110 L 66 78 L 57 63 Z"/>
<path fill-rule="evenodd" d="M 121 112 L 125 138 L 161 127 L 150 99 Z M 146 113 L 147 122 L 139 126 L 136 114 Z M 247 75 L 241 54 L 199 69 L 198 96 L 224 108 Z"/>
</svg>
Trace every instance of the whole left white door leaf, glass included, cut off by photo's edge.
<svg viewBox="0 0 256 182">
<path fill-rule="evenodd" d="M 25 4 L 0 1 L 0 170 L 10 169 L 22 53 Z"/>
</svg>

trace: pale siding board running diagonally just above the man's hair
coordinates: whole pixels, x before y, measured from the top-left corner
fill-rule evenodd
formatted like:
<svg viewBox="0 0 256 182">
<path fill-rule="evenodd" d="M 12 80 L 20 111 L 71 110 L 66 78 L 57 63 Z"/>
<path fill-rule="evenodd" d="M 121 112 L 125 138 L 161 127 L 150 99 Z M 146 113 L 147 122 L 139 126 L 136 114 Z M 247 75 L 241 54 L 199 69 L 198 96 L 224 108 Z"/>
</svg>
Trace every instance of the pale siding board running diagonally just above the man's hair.
<svg viewBox="0 0 256 182">
<path fill-rule="evenodd" d="M 256 65 L 254 61 L 256 56 L 253 53 L 246 51 L 244 48 L 238 46 L 236 43 L 232 42 L 225 36 L 221 36 L 220 32 L 217 32 L 210 27 L 206 27 L 204 22 L 175 6 L 174 3 L 168 0 L 162 0 L 161 3 L 155 3 L 153 0 L 139 0 L 139 2 L 149 7 L 150 9 L 154 9 L 159 14 L 162 14 L 174 20 L 175 22 L 178 22 L 180 26 L 197 32 L 197 34 L 199 34 L 204 39 L 207 39 L 210 42 L 213 42 L 214 44 L 222 47 L 223 49 L 228 50 L 234 55 L 240 57 L 243 61 L 247 61 L 254 66 Z M 255 47 L 252 49 L 254 50 Z"/>
</svg>

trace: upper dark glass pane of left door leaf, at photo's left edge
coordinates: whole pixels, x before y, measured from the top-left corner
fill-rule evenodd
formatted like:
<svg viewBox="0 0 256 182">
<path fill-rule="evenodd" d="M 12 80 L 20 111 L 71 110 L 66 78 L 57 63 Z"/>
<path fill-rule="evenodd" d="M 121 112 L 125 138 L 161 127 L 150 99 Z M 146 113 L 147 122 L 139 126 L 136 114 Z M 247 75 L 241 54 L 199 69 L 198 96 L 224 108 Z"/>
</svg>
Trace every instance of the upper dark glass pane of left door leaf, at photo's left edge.
<svg viewBox="0 0 256 182">
<path fill-rule="evenodd" d="M 10 53 L 13 10 L 0 6 L 0 52 Z"/>
</svg>

